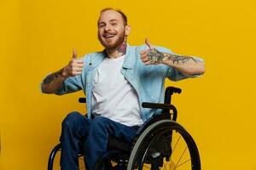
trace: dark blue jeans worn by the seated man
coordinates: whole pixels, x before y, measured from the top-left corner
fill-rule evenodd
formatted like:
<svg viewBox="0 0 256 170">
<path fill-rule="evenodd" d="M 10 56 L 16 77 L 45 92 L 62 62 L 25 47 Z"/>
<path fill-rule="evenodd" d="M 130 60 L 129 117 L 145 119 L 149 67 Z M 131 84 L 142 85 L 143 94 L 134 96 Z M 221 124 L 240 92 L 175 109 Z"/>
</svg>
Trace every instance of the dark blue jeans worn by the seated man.
<svg viewBox="0 0 256 170">
<path fill-rule="evenodd" d="M 71 112 L 62 122 L 61 170 L 79 170 L 79 153 L 84 155 L 87 170 L 107 152 L 108 136 L 131 142 L 136 130 L 103 116 L 90 120 L 79 112 Z"/>
</svg>

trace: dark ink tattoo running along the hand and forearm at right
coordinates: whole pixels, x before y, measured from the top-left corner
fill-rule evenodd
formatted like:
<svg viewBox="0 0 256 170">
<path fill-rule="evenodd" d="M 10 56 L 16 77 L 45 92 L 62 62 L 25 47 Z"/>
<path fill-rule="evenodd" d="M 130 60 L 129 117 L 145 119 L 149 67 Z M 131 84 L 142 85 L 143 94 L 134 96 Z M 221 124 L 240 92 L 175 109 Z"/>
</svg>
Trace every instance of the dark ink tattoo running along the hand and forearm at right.
<svg viewBox="0 0 256 170">
<path fill-rule="evenodd" d="M 153 64 L 160 64 L 162 61 L 170 60 L 172 61 L 172 64 L 185 64 L 188 61 L 192 60 L 195 63 L 199 62 L 198 59 L 195 59 L 191 56 L 185 56 L 185 55 L 177 55 L 177 54 L 163 54 L 157 49 L 153 48 L 148 51 L 148 59 Z"/>
</svg>

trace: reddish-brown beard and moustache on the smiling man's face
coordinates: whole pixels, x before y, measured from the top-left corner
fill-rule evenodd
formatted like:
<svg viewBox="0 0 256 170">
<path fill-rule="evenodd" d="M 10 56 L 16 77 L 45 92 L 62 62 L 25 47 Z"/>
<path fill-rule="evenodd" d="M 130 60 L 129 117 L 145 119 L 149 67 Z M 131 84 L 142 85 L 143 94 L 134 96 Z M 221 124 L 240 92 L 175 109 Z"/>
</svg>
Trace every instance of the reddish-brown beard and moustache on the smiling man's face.
<svg viewBox="0 0 256 170">
<path fill-rule="evenodd" d="M 108 32 L 110 34 L 113 34 L 114 36 L 110 39 L 103 37 L 98 33 L 98 39 L 102 43 L 102 46 L 106 48 L 107 50 L 115 50 L 119 48 L 119 46 L 122 44 L 122 42 L 125 41 L 125 31 L 122 31 L 118 33 L 117 31 L 111 31 Z M 104 32 L 105 34 L 105 32 Z"/>
</svg>

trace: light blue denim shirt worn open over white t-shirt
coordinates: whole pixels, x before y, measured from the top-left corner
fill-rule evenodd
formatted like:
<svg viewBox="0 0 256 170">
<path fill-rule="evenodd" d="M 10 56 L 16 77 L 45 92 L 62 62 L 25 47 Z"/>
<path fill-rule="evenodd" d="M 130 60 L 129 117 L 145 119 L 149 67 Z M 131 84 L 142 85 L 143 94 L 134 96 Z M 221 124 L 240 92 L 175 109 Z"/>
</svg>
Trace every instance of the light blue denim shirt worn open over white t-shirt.
<svg viewBox="0 0 256 170">
<path fill-rule="evenodd" d="M 147 109 L 142 107 L 143 102 L 164 102 L 164 84 L 168 77 L 172 81 L 178 81 L 188 76 L 184 76 L 177 69 L 167 65 L 144 65 L 140 59 L 140 51 L 148 48 L 146 45 L 130 46 L 127 44 L 125 61 L 121 69 L 121 74 L 135 88 L 141 109 L 141 116 L 145 122 L 154 114 L 159 114 L 160 110 Z M 169 49 L 156 47 L 160 52 L 170 53 Z M 106 57 L 106 53 L 96 52 L 84 56 L 84 70 L 81 75 L 68 77 L 62 88 L 56 93 L 58 95 L 72 93 L 83 89 L 86 95 L 87 114 L 91 117 L 91 95 L 94 77 L 98 65 Z"/>
</svg>

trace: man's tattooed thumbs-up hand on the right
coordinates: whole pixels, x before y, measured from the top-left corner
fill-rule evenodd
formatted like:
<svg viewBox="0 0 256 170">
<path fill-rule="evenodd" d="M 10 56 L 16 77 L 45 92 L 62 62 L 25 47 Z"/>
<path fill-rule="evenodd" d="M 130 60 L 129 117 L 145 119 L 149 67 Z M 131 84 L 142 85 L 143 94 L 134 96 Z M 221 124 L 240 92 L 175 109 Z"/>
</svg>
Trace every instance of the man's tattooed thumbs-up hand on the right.
<svg viewBox="0 0 256 170">
<path fill-rule="evenodd" d="M 141 59 L 145 65 L 157 65 L 162 63 L 164 59 L 164 54 L 154 48 L 154 46 L 145 38 L 145 43 L 148 49 L 144 49 L 140 52 Z"/>
</svg>

